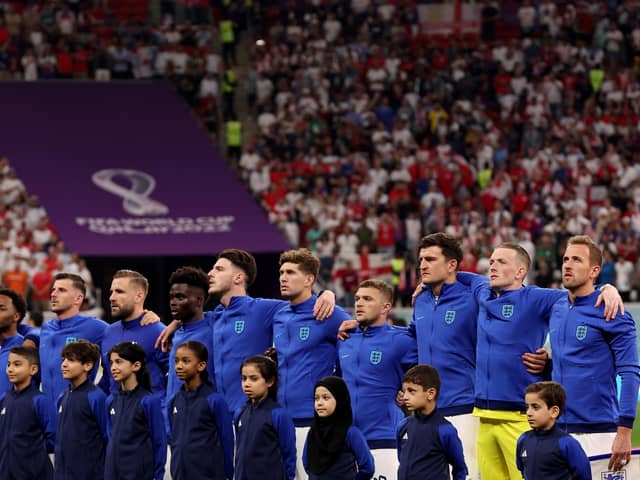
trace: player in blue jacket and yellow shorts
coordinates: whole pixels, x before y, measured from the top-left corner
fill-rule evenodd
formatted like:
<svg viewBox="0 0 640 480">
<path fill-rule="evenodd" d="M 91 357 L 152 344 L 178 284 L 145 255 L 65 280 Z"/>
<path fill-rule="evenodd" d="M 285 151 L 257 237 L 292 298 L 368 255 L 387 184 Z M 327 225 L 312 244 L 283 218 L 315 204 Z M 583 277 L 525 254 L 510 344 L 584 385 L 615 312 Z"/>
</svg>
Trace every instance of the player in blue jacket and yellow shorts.
<svg viewBox="0 0 640 480">
<path fill-rule="evenodd" d="M 488 282 L 479 275 L 458 273 L 458 280 L 471 284 L 480 305 L 474 415 L 480 417 L 478 460 L 484 478 L 520 477 L 516 443 L 529 429 L 524 391 L 529 384 L 544 380 L 543 368 L 536 366 L 533 357 L 546 358 L 542 345 L 551 309 L 566 295 L 560 290 L 524 286 L 530 263 L 526 250 L 506 243 L 491 254 Z M 614 289 L 608 290 L 609 299 L 619 299 Z"/>
</svg>

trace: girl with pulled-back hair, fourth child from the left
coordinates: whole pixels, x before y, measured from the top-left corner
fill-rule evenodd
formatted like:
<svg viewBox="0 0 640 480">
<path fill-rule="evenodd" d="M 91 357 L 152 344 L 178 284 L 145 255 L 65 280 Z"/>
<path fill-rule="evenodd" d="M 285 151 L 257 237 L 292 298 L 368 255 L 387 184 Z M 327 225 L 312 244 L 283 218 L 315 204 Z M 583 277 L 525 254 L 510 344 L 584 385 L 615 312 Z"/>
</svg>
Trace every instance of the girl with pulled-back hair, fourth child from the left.
<svg viewBox="0 0 640 480">
<path fill-rule="evenodd" d="M 231 480 L 233 425 L 224 397 L 209 381 L 209 352 L 200 342 L 175 350 L 175 371 L 184 382 L 169 401 L 173 480 Z"/>
</svg>

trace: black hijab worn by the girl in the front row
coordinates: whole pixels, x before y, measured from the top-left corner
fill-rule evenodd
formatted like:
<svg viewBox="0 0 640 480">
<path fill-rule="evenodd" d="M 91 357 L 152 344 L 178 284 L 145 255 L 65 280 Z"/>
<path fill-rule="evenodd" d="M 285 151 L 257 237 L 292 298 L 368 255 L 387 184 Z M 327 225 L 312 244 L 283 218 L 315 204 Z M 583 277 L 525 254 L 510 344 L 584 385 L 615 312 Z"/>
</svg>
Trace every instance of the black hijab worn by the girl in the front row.
<svg viewBox="0 0 640 480">
<path fill-rule="evenodd" d="M 314 414 L 307 437 L 307 466 L 319 475 L 333 465 L 344 449 L 347 430 L 353 422 L 351 397 L 347 385 L 340 377 L 325 377 L 316 383 L 315 389 L 324 387 L 336 399 L 336 409 L 328 417 Z"/>
</svg>

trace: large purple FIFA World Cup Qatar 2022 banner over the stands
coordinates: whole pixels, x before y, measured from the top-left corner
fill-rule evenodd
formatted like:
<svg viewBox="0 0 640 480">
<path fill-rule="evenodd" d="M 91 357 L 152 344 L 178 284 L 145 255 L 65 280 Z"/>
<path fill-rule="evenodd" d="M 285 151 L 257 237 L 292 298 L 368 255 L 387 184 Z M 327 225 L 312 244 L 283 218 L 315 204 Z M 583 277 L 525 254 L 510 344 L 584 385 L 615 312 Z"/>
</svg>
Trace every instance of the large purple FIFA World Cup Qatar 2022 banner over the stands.
<svg viewBox="0 0 640 480">
<path fill-rule="evenodd" d="M 2 83 L 0 156 L 81 255 L 290 248 L 165 83 Z"/>
</svg>

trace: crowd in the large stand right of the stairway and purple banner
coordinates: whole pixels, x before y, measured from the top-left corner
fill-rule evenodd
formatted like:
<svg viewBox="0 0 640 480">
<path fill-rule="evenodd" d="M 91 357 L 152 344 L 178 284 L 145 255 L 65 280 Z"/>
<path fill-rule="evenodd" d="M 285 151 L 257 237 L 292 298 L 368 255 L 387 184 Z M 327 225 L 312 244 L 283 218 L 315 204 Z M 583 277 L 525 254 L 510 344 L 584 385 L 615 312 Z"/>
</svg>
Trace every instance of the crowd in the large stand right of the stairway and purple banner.
<svg viewBox="0 0 640 480">
<path fill-rule="evenodd" d="M 405 2 L 270 13 L 239 166 L 293 245 L 338 262 L 399 249 L 409 275 L 423 234 L 461 238 L 470 271 L 516 241 L 530 282 L 550 286 L 565 240 L 588 233 L 607 250 L 602 280 L 638 288 L 633 2 L 527 2 L 520 31 L 484 38 L 422 35 Z"/>
</svg>

